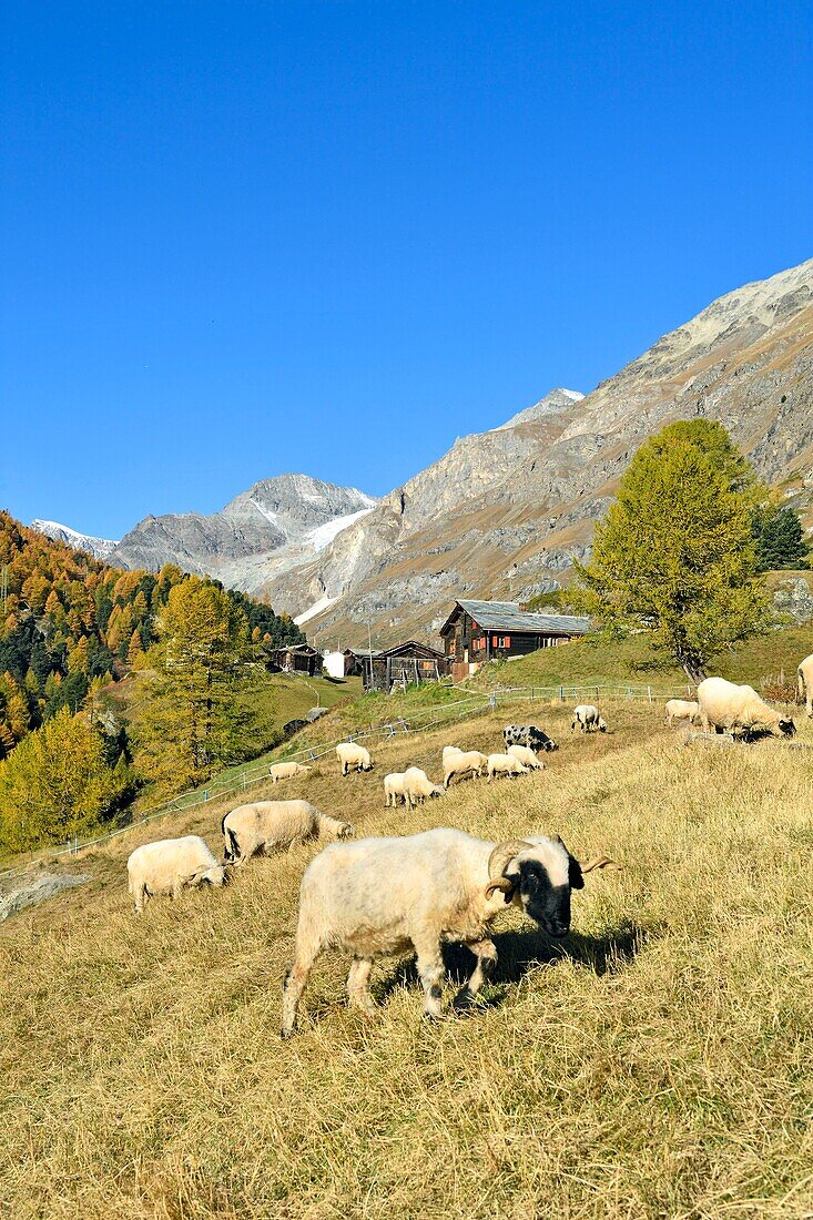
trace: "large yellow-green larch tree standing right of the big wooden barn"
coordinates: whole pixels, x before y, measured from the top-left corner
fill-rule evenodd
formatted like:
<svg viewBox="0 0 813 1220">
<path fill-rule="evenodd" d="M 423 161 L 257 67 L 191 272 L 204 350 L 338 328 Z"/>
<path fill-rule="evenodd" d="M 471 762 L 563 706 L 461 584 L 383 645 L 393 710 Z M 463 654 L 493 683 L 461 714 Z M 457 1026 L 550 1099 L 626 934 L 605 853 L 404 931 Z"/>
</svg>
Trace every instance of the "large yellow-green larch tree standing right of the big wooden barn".
<svg viewBox="0 0 813 1220">
<path fill-rule="evenodd" d="M 652 632 L 697 681 L 737 640 L 764 630 L 752 520 L 759 488 L 725 428 L 671 423 L 645 442 L 576 564 L 579 609 L 608 633 Z"/>
</svg>

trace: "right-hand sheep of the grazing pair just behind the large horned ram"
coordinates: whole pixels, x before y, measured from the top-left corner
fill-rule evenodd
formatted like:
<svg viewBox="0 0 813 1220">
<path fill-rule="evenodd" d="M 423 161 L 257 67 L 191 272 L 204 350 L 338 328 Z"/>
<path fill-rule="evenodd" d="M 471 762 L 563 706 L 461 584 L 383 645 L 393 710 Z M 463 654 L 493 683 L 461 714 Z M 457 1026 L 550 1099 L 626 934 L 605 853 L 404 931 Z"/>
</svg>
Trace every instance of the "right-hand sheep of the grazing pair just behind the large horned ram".
<svg viewBox="0 0 813 1220">
<path fill-rule="evenodd" d="M 237 805 L 220 824 L 223 832 L 223 855 L 242 867 L 258 852 L 275 847 L 304 843 L 317 834 L 350 838 L 355 830 L 350 822 L 339 822 L 319 811 L 308 800 L 255 800 Z"/>
</svg>

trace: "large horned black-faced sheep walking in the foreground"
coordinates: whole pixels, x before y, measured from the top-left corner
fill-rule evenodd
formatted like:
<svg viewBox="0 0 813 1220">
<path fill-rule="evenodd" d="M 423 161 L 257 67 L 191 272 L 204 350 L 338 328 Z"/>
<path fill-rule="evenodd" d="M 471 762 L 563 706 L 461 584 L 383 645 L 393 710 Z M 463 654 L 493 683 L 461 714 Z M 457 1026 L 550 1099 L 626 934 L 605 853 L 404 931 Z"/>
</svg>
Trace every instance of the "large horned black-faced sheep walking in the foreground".
<svg viewBox="0 0 813 1220">
<path fill-rule="evenodd" d="M 557 836 L 492 843 L 448 827 L 400 838 L 336 843 L 315 856 L 302 881 L 294 960 L 283 987 L 282 1037 L 294 1031 L 310 970 L 326 948 L 353 953 L 349 1002 L 374 1011 L 367 989 L 374 960 L 417 954 L 424 1015 L 438 1019 L 441 944 L 463 942 L 477 963 L 452 1009 L 464 1011 L 494 972 L 492 921 L 507 905 L 524 910 L 553 937 L 570 930 L 570 892 L 584 875 L 620 865 L 598 856 L 580 864 Z"/>
</svg>

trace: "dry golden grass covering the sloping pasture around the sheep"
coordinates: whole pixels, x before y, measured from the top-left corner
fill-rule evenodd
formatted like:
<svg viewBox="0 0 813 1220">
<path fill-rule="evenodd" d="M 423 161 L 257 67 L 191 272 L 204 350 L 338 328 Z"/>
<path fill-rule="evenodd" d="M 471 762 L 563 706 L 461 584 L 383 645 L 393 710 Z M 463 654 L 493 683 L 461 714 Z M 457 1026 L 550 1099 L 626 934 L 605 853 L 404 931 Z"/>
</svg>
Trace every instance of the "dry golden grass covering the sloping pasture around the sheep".
<svg viewBox="0 0 813 1220">
<path fill-rule="evenodd" d="M 369 1019 L 344 1006 L 347 961 L 326 956 L 303 1032 L 278 1041 L 316 847 L 142 919 L 127 854 L 188 831 L 219 845 L 229 805 L 88 853 L 92 884 L 0 931 L 0 1214 L 813 1215 L 813 754 L 687 748 L 660 715 L 608 705 L 612 733 L 571 741 L 566 709 L 537 705 L 564 743 L 544 772 L 461 783 L 413 814 L 385 810 L 386 771 L 437 776 L 446 742 L 496 748 L 502 712 L 396 738 L 369 776 L 322 765 L 251 789 L 305 795 L 359 833 L 538 828 L 624 861 L 587 878 L 562 944 L 505 916 L 482 1004 L 436 1027 L 420 1020 L 409 961 L 376 966 Z M 807 725 L 801 739 L 813 745 Z M 449 954 L 452 972 L 465 956 Z"/>
</svg>

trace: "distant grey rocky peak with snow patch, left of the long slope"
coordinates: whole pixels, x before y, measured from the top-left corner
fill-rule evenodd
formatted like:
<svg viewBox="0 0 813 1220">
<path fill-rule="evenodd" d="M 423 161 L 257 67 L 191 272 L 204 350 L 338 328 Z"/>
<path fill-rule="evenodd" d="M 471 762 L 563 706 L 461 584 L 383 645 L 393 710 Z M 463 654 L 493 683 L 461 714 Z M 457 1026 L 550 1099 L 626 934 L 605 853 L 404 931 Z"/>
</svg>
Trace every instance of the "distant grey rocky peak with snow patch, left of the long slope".
<svg viewBox="0 0 813 1220">
<path fill-rule="evenodd" d="M 255 483 L 220 512 L 145 517 L 117 543 L 110 562 L 148 571 L 177 564 L 254 592 L 272 576 L 313 559 L 375 505 L 355 487 L 281 475 Z"/>
</svg>

